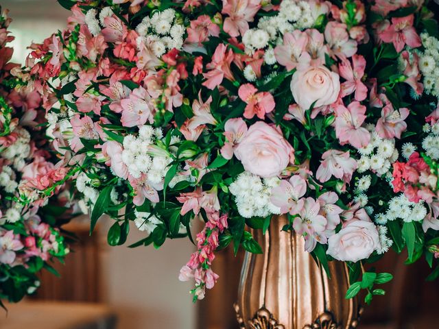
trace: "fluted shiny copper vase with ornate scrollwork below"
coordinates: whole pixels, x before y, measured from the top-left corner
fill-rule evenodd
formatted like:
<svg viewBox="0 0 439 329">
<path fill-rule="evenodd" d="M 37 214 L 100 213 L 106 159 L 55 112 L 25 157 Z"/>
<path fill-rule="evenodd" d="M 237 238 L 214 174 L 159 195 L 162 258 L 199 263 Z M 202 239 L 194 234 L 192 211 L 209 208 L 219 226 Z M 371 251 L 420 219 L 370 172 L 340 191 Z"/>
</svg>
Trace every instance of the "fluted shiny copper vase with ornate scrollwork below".
<svg viewBox="0 0 439 329">
<path fill-rule="evenodd" d="M 241 271 L 237 319 L 246 329 L 350 329 L 358 323 L 357 300 L 346 300 L 348 270 L 329 262 L 331 279 L 305 252 L 301 236 L 281 229 L 285 216 L 273 217 L 254 239 L 263 254 L 246 254 Z"/>
</svg>

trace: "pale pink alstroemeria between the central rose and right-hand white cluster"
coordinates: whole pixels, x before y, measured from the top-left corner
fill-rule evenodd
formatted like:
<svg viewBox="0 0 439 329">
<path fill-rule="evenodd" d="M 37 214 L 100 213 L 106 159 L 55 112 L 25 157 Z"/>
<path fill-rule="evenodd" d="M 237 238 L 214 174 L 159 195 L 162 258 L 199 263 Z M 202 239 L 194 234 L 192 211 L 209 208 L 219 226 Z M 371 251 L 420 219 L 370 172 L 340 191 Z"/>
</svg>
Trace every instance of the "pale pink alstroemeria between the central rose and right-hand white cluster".
<svg viewBox="0 0 439 329">
<path fill-rule="evenodd" d="M 316 172 L 316 178 L 324 183 L 334 176 L 348 183 L 352 174 L 357 169 L 357 161 L 351 158 L 349 151 L 343 152 L 337 149 L 329 149 L 322 155 L 320 167 Z"/>
</svg>

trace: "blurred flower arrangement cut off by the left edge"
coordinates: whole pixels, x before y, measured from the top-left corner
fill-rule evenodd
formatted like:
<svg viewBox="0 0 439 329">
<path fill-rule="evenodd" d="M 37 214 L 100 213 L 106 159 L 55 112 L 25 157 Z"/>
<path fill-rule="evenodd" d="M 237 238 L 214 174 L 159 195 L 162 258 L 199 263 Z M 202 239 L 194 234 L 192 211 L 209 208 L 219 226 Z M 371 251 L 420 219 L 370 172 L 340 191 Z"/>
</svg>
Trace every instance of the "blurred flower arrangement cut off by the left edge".
<svg viewBox="0 0 439 329">
<path fill-rule="evenodd" d="M 9 35 L 8 11 L 0 8 L 0 306 L 2 300 L 18 302 L 39 287 L 36 273 L 47 269 L 56 273 L 49 262 L 62 260 L 69 253 L 56 223 L 69 206 L 69 195 L 38 199 L 30 205 L 20 202 L 20 195 L 33 191 L 43 180 L 56 176 L 56 168 L 45 148 L 44 131 L 36 110 L 40 95 L 32 83 L 24 85 L 20 67 L 10 63 L 13 40 Z M 49 195 L 48 195 L 49 196 Z"/>
</svg>

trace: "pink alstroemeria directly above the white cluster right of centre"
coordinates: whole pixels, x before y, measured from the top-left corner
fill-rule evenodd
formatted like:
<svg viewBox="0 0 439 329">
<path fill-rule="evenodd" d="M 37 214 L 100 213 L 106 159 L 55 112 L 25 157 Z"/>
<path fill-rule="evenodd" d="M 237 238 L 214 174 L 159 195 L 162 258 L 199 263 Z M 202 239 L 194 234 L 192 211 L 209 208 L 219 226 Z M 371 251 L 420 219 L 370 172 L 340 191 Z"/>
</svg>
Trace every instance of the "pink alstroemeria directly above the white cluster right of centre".
<svg viewBox="0 0 439 329">
<path fill-rule="evenodd" d="M 388 103 L 381 110 L 381 118 L 377 121 L 375 130 L 381 138 L 401 138 L 401 134 L 407 129 L 405 119 L 410 114 L 408 108 L 394 110 L 391 103 Z"/>
</svg>

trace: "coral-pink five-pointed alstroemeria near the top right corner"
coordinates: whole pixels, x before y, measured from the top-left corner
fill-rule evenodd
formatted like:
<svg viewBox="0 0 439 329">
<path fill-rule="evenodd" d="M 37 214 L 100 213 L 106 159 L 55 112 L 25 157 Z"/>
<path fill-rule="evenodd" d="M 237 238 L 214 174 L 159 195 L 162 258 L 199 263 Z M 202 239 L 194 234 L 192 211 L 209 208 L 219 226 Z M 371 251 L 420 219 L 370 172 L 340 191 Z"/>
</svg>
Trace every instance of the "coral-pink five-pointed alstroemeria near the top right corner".
<svg viewBox="0 0 439 329">
<path fill-rule="evenodd" d="M 396 51 L 403 50 L 405 45 L 412 48 L 422 46 L 420 36 L 413 26 L 414 14 L 405 17 L 393 17 L 392 24 L 379 34 L 384 42 L 392 42 Z"/>
</svg>

